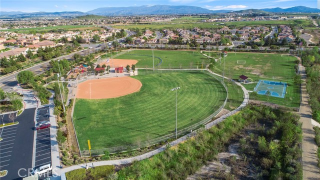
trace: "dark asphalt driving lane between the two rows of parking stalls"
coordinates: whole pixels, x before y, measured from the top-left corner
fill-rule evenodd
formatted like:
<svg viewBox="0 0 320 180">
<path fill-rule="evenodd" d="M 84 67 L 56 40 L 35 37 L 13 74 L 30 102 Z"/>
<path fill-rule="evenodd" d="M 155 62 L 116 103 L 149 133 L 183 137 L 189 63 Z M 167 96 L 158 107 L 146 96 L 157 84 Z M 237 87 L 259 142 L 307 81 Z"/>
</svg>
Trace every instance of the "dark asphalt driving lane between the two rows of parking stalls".
<svg viewBox="0 0 320 180">
<path fill-rule="evenodd" d="M 14 125 L 16 126 L 16 130 L 14 129 L 15 137 L 10 142 L 12 144 L 8 146 L 12 146 L 10 149 L 10 160 L 7 161 L 9 165 L 3 169 L 1 168 L 1 170 L 8 170 L 8 173 L 6 176 L 1 177 L 1 180 L 22 179 L 22 176 L 27 175 L 28 169 L 32 168 L 34 111 L 35 108 L 24 109 L 15 119 L 19 124 Z"/>
</svg>

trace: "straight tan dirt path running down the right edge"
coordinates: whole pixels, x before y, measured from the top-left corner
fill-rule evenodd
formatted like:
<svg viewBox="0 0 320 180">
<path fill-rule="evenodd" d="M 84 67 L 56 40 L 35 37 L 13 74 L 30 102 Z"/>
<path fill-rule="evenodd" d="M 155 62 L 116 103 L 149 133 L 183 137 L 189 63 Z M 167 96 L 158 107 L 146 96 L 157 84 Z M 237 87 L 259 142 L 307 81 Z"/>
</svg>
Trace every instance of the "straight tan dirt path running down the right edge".
<svg viewBox="0 0 320 180">
<path fill-rule="evenodd" d="M 299 65 L 301 78 L 301 104 L 299 115 L 302 122 L 302 168 L 303 179 L 320 179 L 319 168 L 317 167 L 317 145 L 314 141 L 314 130 L 311 123 L 311 108 L 308 104 L 309 95 L 306 91 L 305 68 Z"/>
</svg>

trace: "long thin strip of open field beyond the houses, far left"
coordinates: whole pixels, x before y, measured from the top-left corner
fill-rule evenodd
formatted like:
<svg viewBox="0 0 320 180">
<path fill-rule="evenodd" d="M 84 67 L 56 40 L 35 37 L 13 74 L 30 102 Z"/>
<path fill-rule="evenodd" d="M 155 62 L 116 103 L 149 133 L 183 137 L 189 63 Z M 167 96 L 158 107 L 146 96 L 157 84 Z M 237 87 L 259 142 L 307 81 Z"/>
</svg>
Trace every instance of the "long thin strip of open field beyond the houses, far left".
<svg viewBox="0 0 320 180">
<path fill-rule="evenodd" d="M 57 25 L 57 26 L 49 26 L 49 27 L 30 27 L 30 28 L 17 28 L 17 29 L 2 29 L 0 31 L 17 31 L 21 33 L 28 33 L 30 31 L 48 31 L 53 29 L 67 29 L 67 30 L 84 30 L 84 29 L 99 29 L 100 27 L 96 27 L 94 25 Z"/>
</svg>

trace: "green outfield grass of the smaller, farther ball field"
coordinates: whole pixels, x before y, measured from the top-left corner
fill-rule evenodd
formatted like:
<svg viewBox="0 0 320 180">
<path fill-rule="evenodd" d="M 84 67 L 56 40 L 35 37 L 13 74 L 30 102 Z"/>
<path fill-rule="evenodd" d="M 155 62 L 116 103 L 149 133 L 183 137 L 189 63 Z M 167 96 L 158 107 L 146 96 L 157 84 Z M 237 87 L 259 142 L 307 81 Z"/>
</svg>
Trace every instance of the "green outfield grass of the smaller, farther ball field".
<svg viewBox="0 0 320 180">
<path fill-rule="evenodd" d="M 205 65 L 208 63 L 208 58 L 197 51 L 153 50 L 153 54 L 154 68 L 205 68 Z M 156 57 L 162 59 L 162 63 L 158 66 L 156 64 L 160 62 L 160 59 Z M 152 50 L 133 50 L 116 58 L 135 59 L 138 60 L 136 67 L 152 68 Z"/>
</svg>

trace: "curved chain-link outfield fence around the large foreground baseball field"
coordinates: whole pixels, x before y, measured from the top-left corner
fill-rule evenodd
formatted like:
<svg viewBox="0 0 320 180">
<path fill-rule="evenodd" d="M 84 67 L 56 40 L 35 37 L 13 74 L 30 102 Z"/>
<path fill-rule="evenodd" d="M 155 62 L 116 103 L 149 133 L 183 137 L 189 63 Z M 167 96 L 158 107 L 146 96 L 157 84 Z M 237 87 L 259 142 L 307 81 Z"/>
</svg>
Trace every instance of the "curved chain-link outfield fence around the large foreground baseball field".
<svg viewBox="0 0 320 180">
<path fill-rule="evenodd" d="M 199 70 L 196 70 L 196 69 L 193 69 L 193 70 L 191 70 L 191 69 L 185 69 L 185 70 L 170 69 L 170 70 L 156 70 L 156 71 L 152 71 L 152 72 L 149 72 L 149 73 L 190 72 L 190 71 L 199 71 Z M 214 74 L 211 74 L 207 70 L 203 70 L 202 72 L 206 73 L 206 74 L 212 76 L 213 78 L 215 78 L 216 80 L 220 81 L 222 83 L 223 87 L 225 88 L 226 92 L 228 92 L 228 89 L 227 89 L 226 85 L 222 82 L 222 78 L 220 78 L 220 77 L 218 77 L 218 76 L 216 76 Z M 140 72 L 139 72 L 139 75 L 141 75 Z M 223 107 L 226 104 L 227 98 L 228 98 L 228 93 L 226 95 L 226 98 L 225 98 L 223 104 L 216 111 L 214 111 L 212 114 L 210 114 L 208 117 L 204 118 L 203 120 L 201 120 L 201 121 L 199 121 L 197 123 L 191 124 L 189 127 L 185 127 L 183 129 L 178 130 L 177 131 L 177 136 L 184 136 L 185 134 L 188 134 L 191 130 L 198 129 L 198 128 L 202 127 L 202 125 L 204 125 L 207 122 L 209 122 L 210 120 L 212 120 L 212 118 L 215 117 L 223 109 Z M 146 146 L 154 145 L 154 144 L 157 144 L 159 142 L 164 142 L 164 141 L 166 141 L 167 139 L 170 139 L 170 138 L 175 138 L 175 132 L 172 132 L 172 133 L 169 133 L 167 135 L 160 136 L 160 137 L 157 137 L 157 138 L 153 138 L 153 139 L 150 139 L 150 140 L 146 140 L 146 141 L 143 141 L 143 142 L 139 142 L 139 143 L 132 143 L 132 144 L 128 144 L 128 145 L 122 145 L 122 146 L 116 146 L 116 147 L 108 147 L 108 148 L 103 148 L 103 149 L 91 149 L 90 152 L 91 152 L 91 156 L 102 155 L 102 154 L 104 154 L 105 150 L 107 150 L 109 153 L 122 152 L 122 151 L 137 149 L 137 148 L 140 148 L 140 147 L 146 147 Z M 80 154 L 81 154 L 81 157 L 89 156 L 89 151 L 88 150 L 82 150 L 82 151 L 80 151 Z"/>
</svg>

